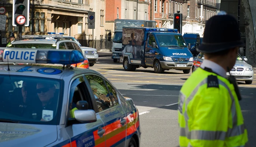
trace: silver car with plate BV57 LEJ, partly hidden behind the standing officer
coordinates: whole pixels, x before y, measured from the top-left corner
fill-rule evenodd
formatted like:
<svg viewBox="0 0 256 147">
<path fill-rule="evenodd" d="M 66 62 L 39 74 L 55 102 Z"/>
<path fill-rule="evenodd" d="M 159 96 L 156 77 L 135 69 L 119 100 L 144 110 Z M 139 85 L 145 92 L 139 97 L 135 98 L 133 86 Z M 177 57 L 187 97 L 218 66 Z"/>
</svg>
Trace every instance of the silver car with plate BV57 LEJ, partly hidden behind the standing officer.
<svg viewBox="0 0 256 147">
<path fill-rule="evenodd" d="M 193 60 L 193 66 L 192 66 L 192 72 L 194 72 L 202 63 L 204 60 L 204 54 L 199 53 L 197 57 Z M 245 56 L 241 56 L 240 54 L 237 54 L 236 64 L 231 69 L 230 74 L 234 75 L 237 81 L 245 81 L 246 84 L 251 84 L 253 82 L 253 67 L 246 63 L 247 58 Z M 226 73 L 229 77 L 229 72 Z"/>
</svg>

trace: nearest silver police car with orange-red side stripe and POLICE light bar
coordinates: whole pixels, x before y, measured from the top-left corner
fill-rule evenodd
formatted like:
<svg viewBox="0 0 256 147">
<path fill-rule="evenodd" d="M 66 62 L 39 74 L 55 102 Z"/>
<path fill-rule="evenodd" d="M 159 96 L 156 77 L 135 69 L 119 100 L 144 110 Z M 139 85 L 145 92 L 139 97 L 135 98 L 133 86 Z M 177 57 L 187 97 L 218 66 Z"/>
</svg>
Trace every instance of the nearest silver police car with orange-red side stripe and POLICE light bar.
<svg viewBox="0 0 256 147">
<path fill-rule="evenodd" d="M 1 147 L 139 147 L 139 112 L 77 50 L 0 48 Z M 63 64 L 62 67 L 42 66 Z M 38 65 L 37 65 L 38 64 Z"/>
</svg>

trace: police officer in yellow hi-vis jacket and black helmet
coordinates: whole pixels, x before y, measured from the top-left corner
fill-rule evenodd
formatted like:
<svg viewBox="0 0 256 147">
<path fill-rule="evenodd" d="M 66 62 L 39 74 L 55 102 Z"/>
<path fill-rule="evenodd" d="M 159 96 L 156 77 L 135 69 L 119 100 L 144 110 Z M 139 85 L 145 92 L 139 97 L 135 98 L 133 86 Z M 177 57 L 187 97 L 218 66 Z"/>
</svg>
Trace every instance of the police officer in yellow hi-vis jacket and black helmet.
<svg viewBox="0 0 256 147">
<path fill-rule="evenodd" d="M 233 76 L 226 77 L 243 45 L 233 16 L 222 12 L 207 21 L 198 49 L 204 53 L 203 63 L 180 90 L 181 147 L 248 146 L 239 89 Z"/>
</svg>

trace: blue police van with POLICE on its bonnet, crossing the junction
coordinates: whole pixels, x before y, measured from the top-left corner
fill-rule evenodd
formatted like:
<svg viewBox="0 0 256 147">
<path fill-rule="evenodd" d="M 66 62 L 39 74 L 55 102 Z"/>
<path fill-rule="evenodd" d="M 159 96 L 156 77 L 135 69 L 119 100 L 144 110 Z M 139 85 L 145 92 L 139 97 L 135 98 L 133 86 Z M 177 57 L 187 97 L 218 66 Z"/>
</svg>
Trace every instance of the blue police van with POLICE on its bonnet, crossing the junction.
<svg viewBox="0 0 256 147">
<path fill-rule="evenodd" d="M 139 67 L 164 70 L 183 70 L 189 74 L 193 55 L 177 29 L 123 27 L 123 68 L 135 71 Z"/>
</svg>

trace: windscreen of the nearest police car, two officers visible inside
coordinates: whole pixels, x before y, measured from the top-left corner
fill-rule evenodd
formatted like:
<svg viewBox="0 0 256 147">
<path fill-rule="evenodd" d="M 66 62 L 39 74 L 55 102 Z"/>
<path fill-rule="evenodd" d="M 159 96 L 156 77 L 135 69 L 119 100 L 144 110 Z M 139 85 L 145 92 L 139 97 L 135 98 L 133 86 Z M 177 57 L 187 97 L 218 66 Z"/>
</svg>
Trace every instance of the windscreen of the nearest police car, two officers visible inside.
<svg viewBox="0 0 256 147">
<path fill-rule="evenodd" d="M 61 80 L 1 75 L 0 122 L 57 125 L 61 86 Z"/>
</svg>

